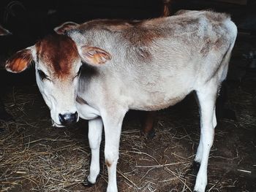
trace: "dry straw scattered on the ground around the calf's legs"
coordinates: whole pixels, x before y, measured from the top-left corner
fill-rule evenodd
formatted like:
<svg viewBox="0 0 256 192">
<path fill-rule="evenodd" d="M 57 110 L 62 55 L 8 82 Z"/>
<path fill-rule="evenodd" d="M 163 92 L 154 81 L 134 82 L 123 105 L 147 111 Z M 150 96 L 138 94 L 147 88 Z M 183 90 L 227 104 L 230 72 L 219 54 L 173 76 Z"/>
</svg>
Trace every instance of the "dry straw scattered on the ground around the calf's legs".
<svg viewBox="0 0 256 192">
<path fill-rule="evenodd" d="M 238 120 L 222 120 L 220 126 L 255 126 L 253 93 L 239 88 L 232 92 L 230 102 Z M 105 191 L 108 174 L 104 142 L 97 185 L 92 188 L 82 185 L 89 174 L 90 161 L 86 122 L 72 128 L 51 127 L 48 109 L 35 85 L 14 88 L 4 101 L 15 121 L 1 123 L 5 130 L 0 134 L 1 191 Z M 141 136 L 139 120 L 128 115 L 121 133 L 117 169 L 120 191 L 192 191 L 195 173 L 191 167 L 200 130 L 197 107 L 192 104 L 188 110 L 189 115 L 184 115 L 178 107 L 159 112 L 154 139 Z M 217 129 L 215 142 L 221 142 L 228 134 L 225 129 Z M 238 182 L 219 179 L 222 169 L 211 162 L 225 160 L 238 164 L 240 154 L 219 155 L 215 154 L 217 150 L 214 144 L 208 191 L 232 189 Z"/>
</svg>

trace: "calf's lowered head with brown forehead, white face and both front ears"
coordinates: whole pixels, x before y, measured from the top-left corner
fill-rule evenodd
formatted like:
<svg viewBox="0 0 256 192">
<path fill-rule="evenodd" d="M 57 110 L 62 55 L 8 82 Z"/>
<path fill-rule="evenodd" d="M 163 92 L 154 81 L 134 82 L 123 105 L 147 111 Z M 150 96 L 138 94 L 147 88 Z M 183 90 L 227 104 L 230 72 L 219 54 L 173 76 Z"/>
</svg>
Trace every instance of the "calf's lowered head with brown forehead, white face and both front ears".
<svg viewBox="0 0 256 192">
<path fill-rule="evenodd" d="M 50 108 L 53 126 L 67 126 L 79 118 L 75 99 L 82 61 L 98 66 L 110 58 L 105 50 L 88 45 L 77 47 L 69 37 L 56 34 L 15 53 L 6 69 L 23 72 L 34 61 L 37 85 Z"/>
</svg>

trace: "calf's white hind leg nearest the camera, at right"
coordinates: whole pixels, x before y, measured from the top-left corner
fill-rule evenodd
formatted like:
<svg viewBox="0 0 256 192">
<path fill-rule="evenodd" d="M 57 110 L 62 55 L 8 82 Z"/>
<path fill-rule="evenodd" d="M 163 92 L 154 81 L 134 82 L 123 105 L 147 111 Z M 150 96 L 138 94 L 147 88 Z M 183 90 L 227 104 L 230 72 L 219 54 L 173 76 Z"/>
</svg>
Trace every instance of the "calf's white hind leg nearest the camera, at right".
<svg viewBox="0 0 256 192">
<path fill-rule="evenodd" d="M 194 189 L 197 192 L 205 191 L 207 184 L 208 157 L 214 142 L 214 127 L 217 124 L 214 115 L 217 90 L 217 83 L 211 80 L 196 91 L 200 107 L 200 144 L 195 157 L 195 161 L 200 163 Z"/>
</svg>

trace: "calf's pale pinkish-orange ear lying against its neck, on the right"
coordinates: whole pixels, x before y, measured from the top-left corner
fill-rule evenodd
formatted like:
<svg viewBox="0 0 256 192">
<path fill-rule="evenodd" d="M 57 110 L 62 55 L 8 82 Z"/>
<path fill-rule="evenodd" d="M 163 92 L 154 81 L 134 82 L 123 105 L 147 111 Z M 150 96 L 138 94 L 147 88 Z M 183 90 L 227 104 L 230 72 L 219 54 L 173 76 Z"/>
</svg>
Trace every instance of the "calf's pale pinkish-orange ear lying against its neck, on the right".
<svg viewBox="0 0 256 192">
<path fill-rule="evenodd" d="M 107 51 L 102 50 L 99 47 L 88 46 L 82 46 L 80 48 L 80 56 L 83 61 L 93 66 L 105 64 L 112 58 Z"/>
</svg>

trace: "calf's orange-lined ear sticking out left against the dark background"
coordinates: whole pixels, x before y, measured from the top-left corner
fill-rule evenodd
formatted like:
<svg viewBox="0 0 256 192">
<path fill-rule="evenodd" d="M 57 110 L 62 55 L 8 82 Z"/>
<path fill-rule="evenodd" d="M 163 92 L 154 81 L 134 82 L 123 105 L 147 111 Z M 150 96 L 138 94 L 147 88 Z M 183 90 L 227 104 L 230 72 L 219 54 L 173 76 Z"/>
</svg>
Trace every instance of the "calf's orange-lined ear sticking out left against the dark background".
<svg viewBox="0 0 256 192">
<path fill-rule="evenodd" d="M 33 52 L 34 46 L 18 51 L 7 60 L 5 69 L 12 73 L 23 72 L 34 61 Z"/>
</svg>

